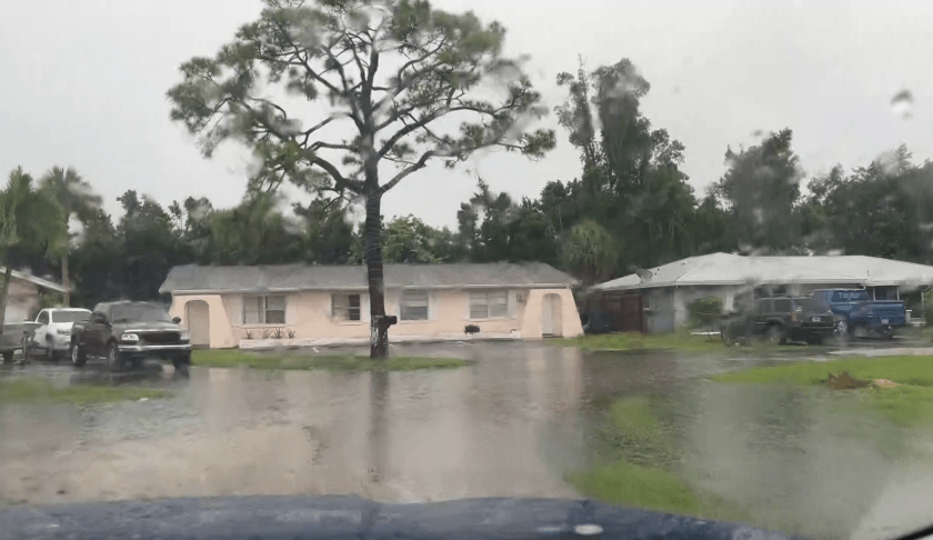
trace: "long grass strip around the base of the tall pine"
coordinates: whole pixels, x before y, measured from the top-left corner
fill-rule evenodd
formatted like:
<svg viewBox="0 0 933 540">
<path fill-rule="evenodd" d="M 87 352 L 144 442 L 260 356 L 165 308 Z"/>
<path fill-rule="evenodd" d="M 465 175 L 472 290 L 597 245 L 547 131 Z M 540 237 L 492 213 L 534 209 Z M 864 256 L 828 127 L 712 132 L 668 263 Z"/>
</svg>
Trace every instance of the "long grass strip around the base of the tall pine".
<svg viewBox="0 0 933 540">
<path fill-rule="evenodd" d="M 390 357 L 372 360 L 353 354 L 297 354 L 274 352 L 244 352 L 231 350 L 194 351 L 194 366 L 211 368 L 294 369 L 330 371 L 413 371 L 418 369 L 450 369 L 469 366 L 469 360 L 457 358 Z"/>
</svg>

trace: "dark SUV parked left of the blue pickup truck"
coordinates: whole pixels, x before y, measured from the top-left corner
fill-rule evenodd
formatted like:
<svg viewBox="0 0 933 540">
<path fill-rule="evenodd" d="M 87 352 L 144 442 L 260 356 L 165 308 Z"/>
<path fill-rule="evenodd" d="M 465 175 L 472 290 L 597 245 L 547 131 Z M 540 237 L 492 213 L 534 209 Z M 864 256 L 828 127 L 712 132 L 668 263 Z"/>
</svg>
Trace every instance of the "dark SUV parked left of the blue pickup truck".
<svg viewBox="0 0 933 540">
<path fill-rule="evenodd" d="M 806 297 L 759 298 L 724 319 L 721 336 L 726 346 L 753 337 L 768 338 L 775 344 L 819 344 L 834 330 L 832 311 Z"/>
</svg>

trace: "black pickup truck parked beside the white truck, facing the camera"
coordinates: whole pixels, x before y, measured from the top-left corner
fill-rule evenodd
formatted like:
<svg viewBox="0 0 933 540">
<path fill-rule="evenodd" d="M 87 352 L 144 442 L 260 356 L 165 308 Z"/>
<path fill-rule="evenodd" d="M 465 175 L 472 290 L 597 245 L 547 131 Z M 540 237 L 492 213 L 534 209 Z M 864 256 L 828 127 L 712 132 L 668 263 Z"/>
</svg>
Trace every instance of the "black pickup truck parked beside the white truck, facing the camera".
<svg viewBox="0 0 933 540">
<path fill-rule="evenodd" d="M 156 303 L 99 303 L 90 321 L 76 322 L 71 329 L 71 362 L 80 368 L 89 356 L 102 357 L 111 369 L 117 369 L 158 358 L 171 361 L 175 371 L 187 373 L 191 366 L 191 342 L 188 330 L 179 322 Z"/>
</svg>

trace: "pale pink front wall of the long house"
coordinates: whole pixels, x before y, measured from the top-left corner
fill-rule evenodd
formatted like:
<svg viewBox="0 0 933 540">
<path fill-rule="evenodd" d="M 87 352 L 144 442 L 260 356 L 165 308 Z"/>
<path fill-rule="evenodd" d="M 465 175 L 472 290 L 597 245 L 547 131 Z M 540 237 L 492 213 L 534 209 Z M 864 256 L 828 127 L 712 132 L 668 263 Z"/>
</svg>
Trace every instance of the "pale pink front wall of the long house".
<svg viewBox="0 0 933 540">
<path fill-rule="evenodd" d="M 188 302 L 201 300 L 210 309 L 211 348 L 237 347 L 247 338 L 261 339 L 273 329 L 293 333 L 293 339 L 360 340 L 370 336 L 369 296 L 363 291 L 341 291 L 361 294 L 360 321 L 339 321 L 332 318 L 332 292 L 301 291 L 285 297 L 284 324 L 244 324 L 243 294 L 174 296 L 170 314 L 179 317 L 188 326 Z M 564 337 L 583 333 L 576 304 L 570 289 L 515 289 L 510 290 L 506 317 L 500 319 L 470 319 L 469 290 L 445 289 L 429 291 L 428 320 L 403 321 L 391 329 L 392 336 L 417 338 L 463 336 L 466 324 L 480 327 L 479 337 L 484 334 L 513 334 L 524 339 L 540 339 L 543 326 L 543 299 L 545 294 L 558 294 L 561 299 L 560 320 Z M 387 314 L 400 314 L 401 290 L 385 293 Z"/>
</svg>

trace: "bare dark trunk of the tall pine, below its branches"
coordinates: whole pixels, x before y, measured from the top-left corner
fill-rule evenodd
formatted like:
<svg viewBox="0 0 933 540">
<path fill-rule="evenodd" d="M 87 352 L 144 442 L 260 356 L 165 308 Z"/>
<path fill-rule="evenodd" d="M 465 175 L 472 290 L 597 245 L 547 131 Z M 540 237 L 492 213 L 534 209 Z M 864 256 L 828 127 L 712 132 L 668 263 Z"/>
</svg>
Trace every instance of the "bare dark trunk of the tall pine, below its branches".
<svg viewBox="0 0 933 540">
<path fill-rule="evenodd" d="M 382 274 L 382 194 L 367 193 L 367 278 L 370 294 L 370 358 L 385 358 L 389 353 L 389 327 L 385 317 L 385 282 Z"/>
</svg>

